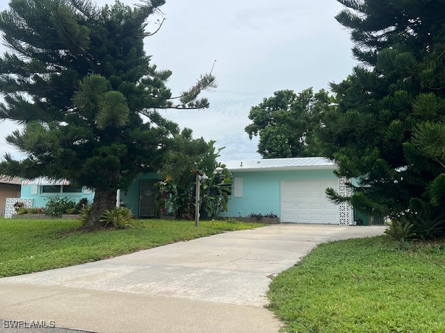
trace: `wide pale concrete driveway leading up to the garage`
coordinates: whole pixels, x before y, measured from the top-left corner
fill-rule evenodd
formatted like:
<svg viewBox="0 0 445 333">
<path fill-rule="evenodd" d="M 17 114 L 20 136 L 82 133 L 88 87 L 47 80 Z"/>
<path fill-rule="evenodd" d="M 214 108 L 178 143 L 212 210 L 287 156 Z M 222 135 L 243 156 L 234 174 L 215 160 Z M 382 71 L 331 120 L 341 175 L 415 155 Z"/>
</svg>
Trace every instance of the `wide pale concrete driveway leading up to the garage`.
<svg viewBox="0 0 445 333">
<path fill-rule="evenodd" d="M 278 332 L 280 322 L 264 308 L 273 275 L 317 244 L 384 230 L 270 225 L 1 278 L 0 318 L 92 332 Z"/>
</svg>

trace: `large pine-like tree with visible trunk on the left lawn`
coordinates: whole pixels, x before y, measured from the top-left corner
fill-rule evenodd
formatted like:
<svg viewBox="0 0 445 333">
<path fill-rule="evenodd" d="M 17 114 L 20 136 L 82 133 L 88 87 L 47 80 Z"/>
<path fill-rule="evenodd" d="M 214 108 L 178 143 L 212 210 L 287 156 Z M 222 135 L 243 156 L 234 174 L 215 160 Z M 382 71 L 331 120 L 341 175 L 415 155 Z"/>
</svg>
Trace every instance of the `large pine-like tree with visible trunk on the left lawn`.
<svg viewBox="0 0 445 333">
<path fill-rule="evenodd" d="M 1 173 L 67 178 L 95 189 L 86 224 L 115 205 L 115 192 L 138 173 L 163 167 L 175 148 L 176 123 L 165 108 L 207 108 L 211 74 L 172 99 L 144 51 L 147 19 L 163 0 L 131 8 L 119 1 L 12 0 L 0 13 L 8 51 L 0 58 L 0 118 L 24 125 L 6 140 L 27 155 L 1 162 Z"/>
</svg>

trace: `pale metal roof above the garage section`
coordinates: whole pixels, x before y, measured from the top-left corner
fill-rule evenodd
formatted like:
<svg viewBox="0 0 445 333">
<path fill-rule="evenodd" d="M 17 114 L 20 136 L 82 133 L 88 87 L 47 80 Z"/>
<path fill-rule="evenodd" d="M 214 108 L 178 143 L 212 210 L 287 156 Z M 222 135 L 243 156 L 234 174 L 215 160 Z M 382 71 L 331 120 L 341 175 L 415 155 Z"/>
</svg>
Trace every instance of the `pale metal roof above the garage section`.
<svg viewBox="0 0 445 333">
<path fill-rule="evenodd" d="M 325 157 L 270 158 L 258 160 L 232 160 L 223 162 L 230 171 L 278 171 L 335 169 L 336 164 Z"/>
</svg>

